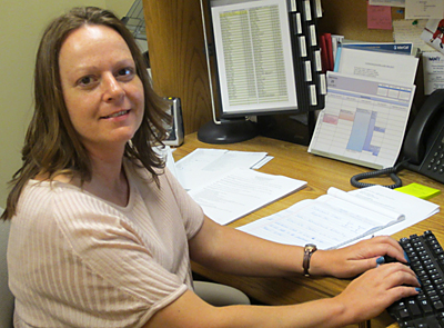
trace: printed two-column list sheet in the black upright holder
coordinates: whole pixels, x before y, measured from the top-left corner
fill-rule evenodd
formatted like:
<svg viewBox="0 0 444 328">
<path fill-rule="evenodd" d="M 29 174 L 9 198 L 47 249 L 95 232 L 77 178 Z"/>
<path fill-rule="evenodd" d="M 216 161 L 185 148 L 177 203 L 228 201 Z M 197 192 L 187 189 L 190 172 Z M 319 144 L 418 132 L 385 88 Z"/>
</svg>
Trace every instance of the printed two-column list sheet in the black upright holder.
<svg viewBox="0 0 444 328">
<path fill-rule="evenodd" d="M 286 2 L 259 0 L 212 7 L 225 112 L 297 108 L 294 71 L 289 69 L 293 53 Z"/>
</svg>

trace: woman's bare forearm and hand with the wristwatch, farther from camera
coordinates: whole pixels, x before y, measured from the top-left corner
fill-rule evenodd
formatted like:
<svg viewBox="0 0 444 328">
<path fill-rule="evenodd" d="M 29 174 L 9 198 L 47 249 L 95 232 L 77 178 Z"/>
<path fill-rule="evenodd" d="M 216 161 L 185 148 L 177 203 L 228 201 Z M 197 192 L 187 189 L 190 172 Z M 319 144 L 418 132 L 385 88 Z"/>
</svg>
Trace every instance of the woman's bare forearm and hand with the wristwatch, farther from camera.
<svg viewBox="0 0 444 328">
<path fill-rule="evenodd" d="M 275 277 L 303 271 L 303 247 L 264 240 L 209 218 L 189 243 L 192 260 L 218 271 Z M 355 277 L 376 267 L 376 259 L 385 255 L 405 262 L 404 251 L 393 238 L 376 237 L 342 249 L 315 251 L 310 274 Z"/>
</svg>

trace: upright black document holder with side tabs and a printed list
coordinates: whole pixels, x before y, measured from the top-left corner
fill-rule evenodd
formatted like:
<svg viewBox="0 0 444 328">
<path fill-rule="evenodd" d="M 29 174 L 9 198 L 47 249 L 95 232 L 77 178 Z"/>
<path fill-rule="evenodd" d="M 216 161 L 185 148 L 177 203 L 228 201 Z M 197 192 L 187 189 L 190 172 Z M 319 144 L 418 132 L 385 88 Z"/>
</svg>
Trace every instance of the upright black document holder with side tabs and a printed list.
<svg viewBox="0 0 444 328">
<path fill-rule="evenodd" d="M 313 37 L 305 38 L 302 9 L 292 12 L 286 0 L 209 2 L 222 118 L 317 109 L 305 46 Z M 311 106 L 301 97 L 311 97 Z"/>
</svg>

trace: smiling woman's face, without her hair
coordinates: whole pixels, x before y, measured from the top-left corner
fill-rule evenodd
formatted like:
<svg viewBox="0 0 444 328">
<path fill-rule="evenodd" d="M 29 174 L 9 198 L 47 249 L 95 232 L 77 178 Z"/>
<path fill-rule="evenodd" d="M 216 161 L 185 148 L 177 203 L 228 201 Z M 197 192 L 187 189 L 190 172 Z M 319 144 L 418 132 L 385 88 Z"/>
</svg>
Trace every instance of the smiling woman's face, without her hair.
<svg viewBox="0 0 444 328">
<path fill-rule="evenodd" d="M 59 66 L 68 113 L 84 147 L 124 147 L 141 125 L 144 98 L 123 38 L 104 26 L 83 26 L 63 42 Z"/>
</svg>

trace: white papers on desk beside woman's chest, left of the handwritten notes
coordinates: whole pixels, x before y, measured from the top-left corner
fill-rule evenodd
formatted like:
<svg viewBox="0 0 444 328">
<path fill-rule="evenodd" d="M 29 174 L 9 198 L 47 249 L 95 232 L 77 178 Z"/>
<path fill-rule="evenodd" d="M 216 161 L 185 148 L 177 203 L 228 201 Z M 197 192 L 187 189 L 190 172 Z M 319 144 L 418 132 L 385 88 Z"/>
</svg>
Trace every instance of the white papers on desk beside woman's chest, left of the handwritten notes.
<svg viewBox="0 0 444 328">
<path fill-rule="evenodd" d="M 181 185 L 218 223 L 230 223 L 306 182 L 252 170 L 270 160 L 265 152 L 196 149 L 175 165 Z"/>
</svg>

